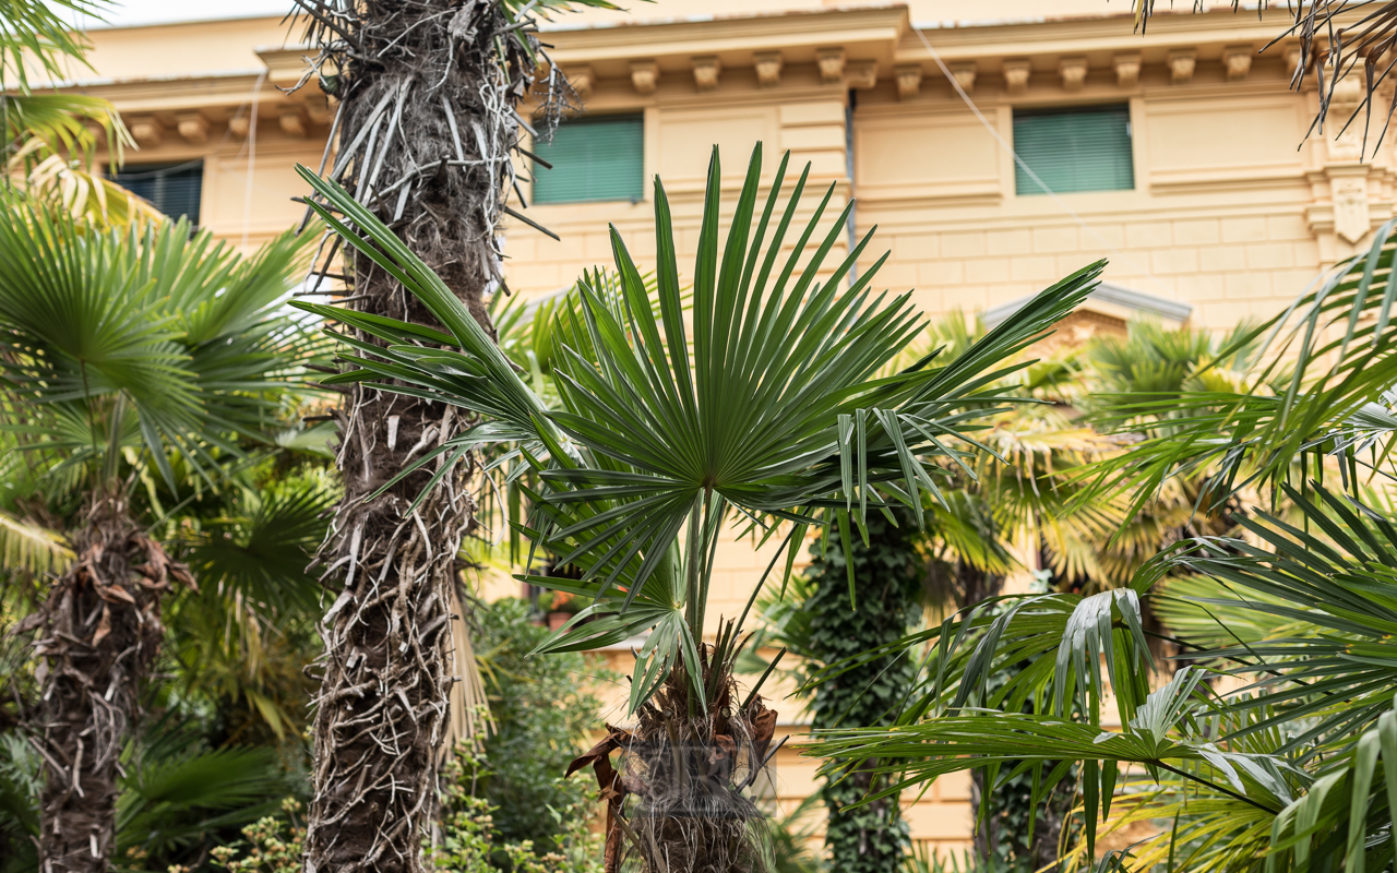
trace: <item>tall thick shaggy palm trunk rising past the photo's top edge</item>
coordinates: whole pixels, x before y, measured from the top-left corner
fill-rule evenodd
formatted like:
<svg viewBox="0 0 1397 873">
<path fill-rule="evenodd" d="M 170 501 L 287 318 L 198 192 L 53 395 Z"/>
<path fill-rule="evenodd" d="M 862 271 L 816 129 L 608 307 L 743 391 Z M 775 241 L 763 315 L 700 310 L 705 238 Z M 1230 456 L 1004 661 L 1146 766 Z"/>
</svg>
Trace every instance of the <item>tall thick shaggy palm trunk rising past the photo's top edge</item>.
<svg viewBox="0 0 1397 873">
<path fill-rule="evenodd" d="M 496 225 L 511 189 L 515 105 L 534 61 L 489 3 L 303 0 L 323 75 L 341 99 L 332 175 L 441 277 L 489 331 L 500 284 Z M 499 47 L 506 54 L 499 54 Z M 328 70 L 327 70 L 328 73 Z M 334 251 L 326 254 L 327 270 Z M 419 324 L 427 310 L 370 260 L 353 263 L 355 309 Z M 370 339 L 360 337 L 360 339 Z M 394 475 L 460 433 L 454 408 L 355 388 L 339 412 L 345 496 L 321 550 L 341 594 L 324 617 L 316 698 L 310 873 L 416 873 L 447 729 L 450 587 L 475 506 L 465 462 Z M 440 462 L 440 461 L 439 461 Z"/>
</svg>

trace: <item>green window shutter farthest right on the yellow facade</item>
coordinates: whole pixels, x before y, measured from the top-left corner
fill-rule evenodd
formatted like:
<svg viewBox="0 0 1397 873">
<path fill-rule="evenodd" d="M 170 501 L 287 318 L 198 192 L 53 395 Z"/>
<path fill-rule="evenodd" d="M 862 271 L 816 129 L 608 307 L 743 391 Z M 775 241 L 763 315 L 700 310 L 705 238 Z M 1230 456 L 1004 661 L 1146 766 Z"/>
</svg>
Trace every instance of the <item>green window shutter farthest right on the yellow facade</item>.
<svg viewBox="0 0 1397 873">
<path fill-rule="evenodd" d="M 1014 152 L 1058 194 L 1134 187 L 1129 106 L 1016 110 Z M 1016 163 L 1014 193 L 1044 190 Z"/>
</svg>

